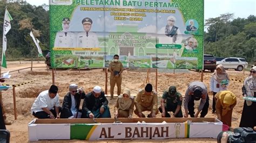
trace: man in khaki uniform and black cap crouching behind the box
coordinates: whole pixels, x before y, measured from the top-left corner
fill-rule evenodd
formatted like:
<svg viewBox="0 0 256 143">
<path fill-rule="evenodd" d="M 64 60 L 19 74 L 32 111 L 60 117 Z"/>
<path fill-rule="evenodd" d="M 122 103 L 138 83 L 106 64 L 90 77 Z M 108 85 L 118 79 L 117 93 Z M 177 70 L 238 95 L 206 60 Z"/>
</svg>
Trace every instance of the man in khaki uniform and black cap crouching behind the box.
<svg viewBox="0 0 256 143">
<path fill-rule="evenodd" d="M 156 117 L 157 109 L 157 92 L 153 91 L 152 84 L 147 83 L 145 89 L 139 90 L 135 97 L 136 110 L 134 113 L 140 118 L 145 118 L 143 111 L 151 111 L 147 117 Z"/>
</svg>

